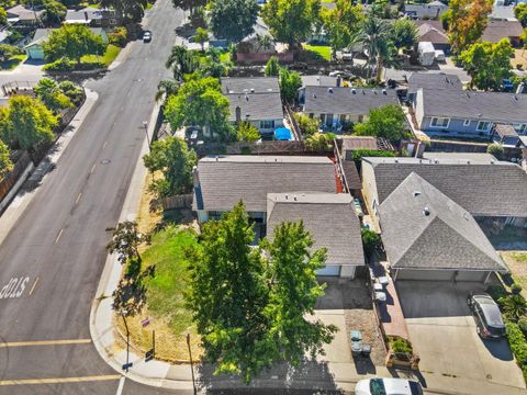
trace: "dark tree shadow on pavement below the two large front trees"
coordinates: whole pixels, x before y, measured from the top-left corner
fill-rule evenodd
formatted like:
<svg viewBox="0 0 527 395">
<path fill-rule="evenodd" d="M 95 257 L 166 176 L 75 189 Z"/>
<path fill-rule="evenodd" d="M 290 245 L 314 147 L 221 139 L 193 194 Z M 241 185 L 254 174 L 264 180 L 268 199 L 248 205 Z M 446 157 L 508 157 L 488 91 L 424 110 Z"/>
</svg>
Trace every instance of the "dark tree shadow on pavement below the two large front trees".
<svg viewBox="0 0 527 395">
<path fill-rule="evenodd" d="M 197 386 L 206 394 L 343 394 L 326 362 L 304 361 L 298 368 L 280 363 L 265 370 L 249 385 L 238 375 L 214 375 L 214 365 L 198 366 Z"/>
</svg>

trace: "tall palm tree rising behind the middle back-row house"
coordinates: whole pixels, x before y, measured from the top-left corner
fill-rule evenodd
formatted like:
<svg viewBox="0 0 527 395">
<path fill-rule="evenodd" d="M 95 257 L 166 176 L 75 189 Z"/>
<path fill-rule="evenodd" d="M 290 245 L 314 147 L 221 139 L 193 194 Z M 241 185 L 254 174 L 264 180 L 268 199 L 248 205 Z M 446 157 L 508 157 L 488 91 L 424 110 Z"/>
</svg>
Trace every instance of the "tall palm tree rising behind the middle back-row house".
<svg viewBox="0 0 527 395">
<path fill-rule="evenodd" d="M 375 81 L 381 81 L 382 70 L 391 60 L 393 44 L 390 37 L 391 29 L 388 22 L 378 18 L 368 18 L 361 30 L 354 37 L 354 44 L 360 44 L 368 56 L 370 71 L 377 71 Z"/>
</svg>

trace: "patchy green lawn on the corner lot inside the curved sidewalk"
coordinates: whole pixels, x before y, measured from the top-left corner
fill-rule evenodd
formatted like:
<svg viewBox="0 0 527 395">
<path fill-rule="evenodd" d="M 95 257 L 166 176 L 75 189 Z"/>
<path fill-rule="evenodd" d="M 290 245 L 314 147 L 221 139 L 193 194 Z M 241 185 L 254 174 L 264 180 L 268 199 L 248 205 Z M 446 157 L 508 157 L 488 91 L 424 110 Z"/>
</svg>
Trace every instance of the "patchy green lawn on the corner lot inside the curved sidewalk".
<svg viewBox="0 0 527 395">
<path fill-rule="evenodd" d="M 186 248 L 198 248 L 194 232 L 168 226 L 153 236 L 152 246 L 143 253 L 143 268 L 156 268 L 155 275 L 145 283 L 148 311 L 166 318 L 175 335 L 186 334 L 192 325 L 182 296 L 189 266 Z"/>
</svg>

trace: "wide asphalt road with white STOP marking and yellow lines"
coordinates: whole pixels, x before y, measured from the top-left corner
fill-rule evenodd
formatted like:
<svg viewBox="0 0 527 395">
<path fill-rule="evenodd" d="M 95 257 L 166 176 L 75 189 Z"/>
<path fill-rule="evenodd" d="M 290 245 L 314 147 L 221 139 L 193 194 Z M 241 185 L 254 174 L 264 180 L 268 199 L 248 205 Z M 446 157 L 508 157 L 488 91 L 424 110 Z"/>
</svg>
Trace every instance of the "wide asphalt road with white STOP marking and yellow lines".
<svg viewBox="0 0 527 395">
<path fill-rule="evenodd" d="M 182 18 L 158 0 L 146 22 L 152 43 L 134 43 L 121 66 L 88 83 L 99 100 L 0 246 L 2 395 L 117 392 L 120 376 L 90 342 L 90 306 L 105 229 L 117 223 Z M 161 392 L 124 382 L 122 394 L 147 393 Z"/>
</svg>

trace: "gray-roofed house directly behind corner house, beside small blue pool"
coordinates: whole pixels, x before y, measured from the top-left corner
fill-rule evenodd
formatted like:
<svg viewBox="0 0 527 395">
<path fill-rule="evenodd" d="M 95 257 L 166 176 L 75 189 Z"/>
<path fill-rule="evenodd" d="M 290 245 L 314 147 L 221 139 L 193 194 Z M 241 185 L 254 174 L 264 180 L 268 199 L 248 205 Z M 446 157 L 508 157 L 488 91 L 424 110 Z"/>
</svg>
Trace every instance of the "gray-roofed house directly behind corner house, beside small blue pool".
<svg viewBox="0 0 527 395">
<path fill-rule="evenodd" d="M 262 135 L 283 126 L 278 78 L 224 78 L 222 92 L 228 99 L 232 123 L 249 122 Z"/>
</svg>

